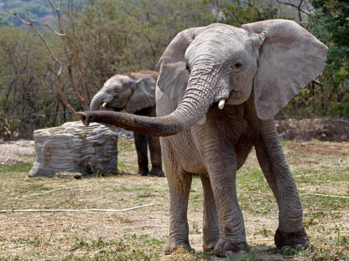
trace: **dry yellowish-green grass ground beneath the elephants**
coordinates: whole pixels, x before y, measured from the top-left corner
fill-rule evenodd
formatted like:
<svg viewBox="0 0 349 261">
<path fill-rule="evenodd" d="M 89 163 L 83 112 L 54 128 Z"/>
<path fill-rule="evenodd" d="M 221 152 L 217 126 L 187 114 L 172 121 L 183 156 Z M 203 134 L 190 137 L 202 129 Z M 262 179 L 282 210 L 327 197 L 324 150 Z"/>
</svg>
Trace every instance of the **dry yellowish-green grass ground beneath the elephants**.
<svg viewBox="0 0 349 261">
<path fill-rule="evenodd" d="M 0 209 L 43 208 L 123 209 L 149 203 L 148 208 L 123 213 L 54 212 L 0 214 L 0 260 L 218 260 L 202 252 L 202 187 L 193 178 L 189 196 L 189 239 L 194 251 L 166 255 L 169 230 L 169 188 L 166 178 L 136 175 L 132 140 L 120 140 L 119 169 L 128 175 L 29 178 L 31 163 L 0 167 Z M 349 143 L 284 142 L 300 193 L 349 196 Z M 0 147 L 1 150 L 1 147 Z M 0 151 L 1 153 L 1 151 Z M 342 159 L 340 161 L 340 159 Z M 18 160 L 18 159 L 17 159 Z M 43 195 L 25 195 L 60 190 Z M 300 253 L 274 247 L 278 210 L 271 190 L 252 153 L 237 174 L 251 254 L 230 260 L 349 259 L 349 199 L 302 196 L 304 223 L 311 247 Z M 307 259 L 308 258 L 308 259 Z"/>
</svg>

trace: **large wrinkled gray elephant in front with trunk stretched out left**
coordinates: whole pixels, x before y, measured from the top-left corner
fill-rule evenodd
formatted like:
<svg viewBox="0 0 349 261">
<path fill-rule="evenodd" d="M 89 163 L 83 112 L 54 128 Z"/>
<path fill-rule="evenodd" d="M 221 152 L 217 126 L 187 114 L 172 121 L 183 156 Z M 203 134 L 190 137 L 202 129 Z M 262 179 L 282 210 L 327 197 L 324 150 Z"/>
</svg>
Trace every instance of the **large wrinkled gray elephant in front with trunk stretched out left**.
<svg viewBox="0 0 349 261">
<path fill-rule="evenodd" d="M 327 50 L 289 20 L 187 29 L 158 64 L 157 118 L 94 111 L 79 117 L 163 136 L 171 201 L 166 250 L 189 247 L 192 173 L 203 186 L 203 249 L 219 257 L 250 250 L 235 179 L 253 146 L 279 207 L 275 245 L 300 250 L 309 246 L 302 203 L 273 116 L 320 75 Z"/>
</svg>

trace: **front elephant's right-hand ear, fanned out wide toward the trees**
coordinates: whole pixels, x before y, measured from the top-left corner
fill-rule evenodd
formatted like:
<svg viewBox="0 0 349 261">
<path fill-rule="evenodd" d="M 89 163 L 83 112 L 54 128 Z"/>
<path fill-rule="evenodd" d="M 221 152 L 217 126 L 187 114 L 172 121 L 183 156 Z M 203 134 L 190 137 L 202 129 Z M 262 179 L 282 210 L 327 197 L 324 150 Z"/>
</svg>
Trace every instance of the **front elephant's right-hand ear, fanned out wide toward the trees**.
<svg viewBox="0 0 349 261">
<path fill-rule="evenodd" d="M 290 20 L 266 20 L 242 28 L 258 34 L 261 43 L 254 101 L 258 118 L 268 119 L 321 74 L 328 47 Z"/>
</svg>

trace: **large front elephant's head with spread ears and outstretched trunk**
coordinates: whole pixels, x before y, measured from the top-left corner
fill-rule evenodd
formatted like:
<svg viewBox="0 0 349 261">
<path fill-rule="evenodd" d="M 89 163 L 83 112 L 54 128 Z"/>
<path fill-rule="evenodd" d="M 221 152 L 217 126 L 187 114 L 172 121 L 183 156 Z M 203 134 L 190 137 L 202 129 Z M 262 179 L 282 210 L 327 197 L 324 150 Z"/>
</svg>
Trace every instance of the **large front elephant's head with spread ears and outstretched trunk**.
<svg viewBox="0 0 349 261">
<path fill-rule="evenodd" d="M 159 88 L 178 106 L 164 117 L 81 112 L 89 122 L 110 123 L 152 136 L 169 136 L 204 123 L 219 102 L 240 104 L 253 89 L 257 116 L 273 117 L 326 65 L 328 48 L 296 22 L 267 20 L 242 28 L 215 23 L 180 32 L 158 63 Z M 217 104 L 218 105 L 218 104 Z"/>
</svg>

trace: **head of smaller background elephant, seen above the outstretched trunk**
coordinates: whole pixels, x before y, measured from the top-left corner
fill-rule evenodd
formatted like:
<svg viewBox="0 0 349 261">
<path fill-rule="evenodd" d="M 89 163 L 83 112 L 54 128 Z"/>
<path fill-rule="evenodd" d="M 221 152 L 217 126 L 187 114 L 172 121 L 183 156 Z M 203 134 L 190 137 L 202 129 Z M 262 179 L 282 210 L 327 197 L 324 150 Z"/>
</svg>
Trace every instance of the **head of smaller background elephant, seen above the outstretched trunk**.
<svg viewBox="0 0 349 261">
<path fill-rule="evenodd" d="M 155 106 L 155 87 L 158 73 L 142 70 L 136 73 L 117 74 L 110 78 L 94 95 L 90 110 L 99 107 L 135 112 Z"/>
</svg>

